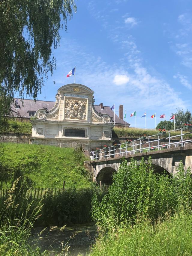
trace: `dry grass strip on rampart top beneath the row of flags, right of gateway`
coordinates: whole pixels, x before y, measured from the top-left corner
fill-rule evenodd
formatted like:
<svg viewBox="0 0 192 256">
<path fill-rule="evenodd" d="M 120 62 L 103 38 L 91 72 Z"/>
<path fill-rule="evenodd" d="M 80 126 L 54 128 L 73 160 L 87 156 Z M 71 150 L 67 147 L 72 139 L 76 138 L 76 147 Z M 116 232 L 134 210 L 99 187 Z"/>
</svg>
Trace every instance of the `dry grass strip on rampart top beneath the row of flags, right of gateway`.
<svg viewBox="0 0 192 256">
<path fill-rule="evenodd" d="M 113 138 L 139 138 L 143 136 L 144 134 L 146 136 L 152 136 L 158 133 L 158 130 L 155 129 L 141 129 L 141 128 L 123 128 L 123 127 L 114 127 L 113 128 Z M 187 133 L 187 132 L 184 132 Z M 180 131 L 171 132 L 170 135 L 178 135 L 180 134 Z M 167 134 L 168 136 L 168 134 Z M 157 138 L 154 137 L 154 138 Z M 180 137 L 176 137 L 175 139 L 178 139 Z M 184 136 L 184 139 L 192 138 L 192 134 L 187 134 Z"/>
</svg>

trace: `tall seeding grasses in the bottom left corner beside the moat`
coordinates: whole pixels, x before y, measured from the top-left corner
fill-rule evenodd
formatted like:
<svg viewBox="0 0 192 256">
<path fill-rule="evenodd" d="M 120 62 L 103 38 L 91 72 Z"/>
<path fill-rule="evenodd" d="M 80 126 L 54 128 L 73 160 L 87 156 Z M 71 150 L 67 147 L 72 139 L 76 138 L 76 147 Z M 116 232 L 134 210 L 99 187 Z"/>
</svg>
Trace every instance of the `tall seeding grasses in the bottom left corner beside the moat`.
<svg viewBox="0 0 192 256">
<path fill-rule="evenodd" d="M 43 255 L 38 247 L 32 248 L 27 243 L 32 226 L 39 217 L 42 207 L 41 202 L 33 204 L 33 201 L 28 201 L 28 198 L 19 201 L 19 196 L 15 194 L 18 181 L 19 179 L 13 183 L 8 198 L 0 211 L 0 255 Z M 24 201 L 26 208 L 19 211 L 18 214 L 18 207 L 21 210 Z"/>
</svg>

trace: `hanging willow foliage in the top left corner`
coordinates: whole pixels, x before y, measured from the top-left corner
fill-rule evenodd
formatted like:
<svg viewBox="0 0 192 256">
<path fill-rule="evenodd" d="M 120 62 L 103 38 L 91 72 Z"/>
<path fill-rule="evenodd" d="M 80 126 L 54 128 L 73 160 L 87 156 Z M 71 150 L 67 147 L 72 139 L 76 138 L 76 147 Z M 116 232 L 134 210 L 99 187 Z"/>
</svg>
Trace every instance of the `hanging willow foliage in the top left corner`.
<svg viewBox="0 0 192 256">
<path fill-rule="evenodd" d="M 73 10 L 74 0 L 0 0 L 0 97 L 37 98 Z"/>
</svg>

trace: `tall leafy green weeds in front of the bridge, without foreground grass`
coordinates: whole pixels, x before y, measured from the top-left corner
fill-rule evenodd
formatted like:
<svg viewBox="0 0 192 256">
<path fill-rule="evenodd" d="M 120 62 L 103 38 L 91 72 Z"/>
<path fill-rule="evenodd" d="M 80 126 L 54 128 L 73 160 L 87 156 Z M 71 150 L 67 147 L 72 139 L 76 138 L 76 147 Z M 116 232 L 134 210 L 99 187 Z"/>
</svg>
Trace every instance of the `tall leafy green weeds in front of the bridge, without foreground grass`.
<svg viewBox="0 0 192 256">
<path fill-rule="evenodd" d="M 190 169 L 185 173 L 182 163 L 175 177 L 169 177 L 155 174 L 150 159 L 148 163 L 142 159 L 140 165 L 134 159 L 129 165 L 124 160 L 102 201 L 93 196 L 91 216 L 104 229 L 116 229 L 143 219 L 155 222 L 167 212 L 179 212 L 181 207 L 190 212 L 191 199 Z"/>
</svg>

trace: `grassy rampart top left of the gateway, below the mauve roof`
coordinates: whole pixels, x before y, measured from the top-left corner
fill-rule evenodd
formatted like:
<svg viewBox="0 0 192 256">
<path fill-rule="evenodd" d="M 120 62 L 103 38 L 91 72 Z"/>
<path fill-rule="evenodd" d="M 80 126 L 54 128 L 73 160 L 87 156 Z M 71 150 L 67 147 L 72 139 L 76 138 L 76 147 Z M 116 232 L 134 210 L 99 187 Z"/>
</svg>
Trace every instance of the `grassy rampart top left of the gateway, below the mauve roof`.
<svg viewBox="0 0 192 256">
<path fill-rule="evenodd" d="M 0 133 L 15 133 L 15 134 L 29 134 L 32 135 L 32 124 L 30 122 L 21 121 L 5 121 L 0 126 Z"/>
</svg>

